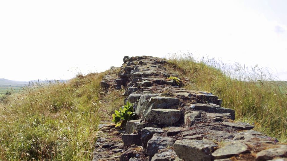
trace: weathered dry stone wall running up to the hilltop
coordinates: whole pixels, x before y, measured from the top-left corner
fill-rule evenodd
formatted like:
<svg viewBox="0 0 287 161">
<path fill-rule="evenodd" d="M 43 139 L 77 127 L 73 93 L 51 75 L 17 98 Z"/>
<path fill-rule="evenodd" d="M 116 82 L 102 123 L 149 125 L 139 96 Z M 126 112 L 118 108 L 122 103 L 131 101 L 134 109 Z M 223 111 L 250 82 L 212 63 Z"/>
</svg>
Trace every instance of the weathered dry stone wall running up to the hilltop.
<svg viewBox="0 0 287 161">
<path fill-rule="evenodd" d="M 118 77 L 107 75 L 106 89 L 125 89 L 138 120 L 122 135 L 121 161 L 286 160 L 287 146 L 248 123 L 235 122 L 232 109 L 217 96 L 184 88 L 168 77 L 167 62 L 151 56 L 124 57 Z M 181 87 L 179 87 L 181 86 Z"/>
</svg>

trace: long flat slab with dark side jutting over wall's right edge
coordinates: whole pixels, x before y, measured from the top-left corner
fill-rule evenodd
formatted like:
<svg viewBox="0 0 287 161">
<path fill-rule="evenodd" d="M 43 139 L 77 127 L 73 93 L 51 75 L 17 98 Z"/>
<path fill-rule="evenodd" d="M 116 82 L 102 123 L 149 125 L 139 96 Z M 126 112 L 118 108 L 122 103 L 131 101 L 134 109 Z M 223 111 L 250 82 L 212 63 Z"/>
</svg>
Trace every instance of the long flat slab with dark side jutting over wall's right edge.
<svg viewBox="0 0 287 161">
<path fill-rule="evenodd" d="M 202 110 L 205 112 L 212 112 L 212 113 L 230 113 L 231 119 L 235 119 L 235 112 L 233 109 L 227 109 L 215 104 L 209 105 L 209 104 L 203 104 L 203 103 L 198 103 L 198 104 L 192 104 L 190 106 L 191 109 L 195 110 Z"/>
</svg>

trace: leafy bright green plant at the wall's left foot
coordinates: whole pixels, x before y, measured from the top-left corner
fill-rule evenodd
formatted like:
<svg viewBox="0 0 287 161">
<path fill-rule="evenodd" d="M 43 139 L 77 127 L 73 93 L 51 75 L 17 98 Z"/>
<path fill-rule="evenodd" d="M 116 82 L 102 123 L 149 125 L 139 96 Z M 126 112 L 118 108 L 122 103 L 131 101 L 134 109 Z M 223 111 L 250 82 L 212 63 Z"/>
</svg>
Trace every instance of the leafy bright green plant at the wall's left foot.
<svg viewBox="0 0 287 161">
<path fill-rule="evenodd" d="M 133 103 L 126 102 L 126 105 L 120 107 L 119 111 L 115 110 L 115 114 L 112 114 L 112 121 L 116 124 L 116 127 L 120 126 L 120 128 L 123 128 L 128 120 L 135 119 L 133 106 Z"/>
</svg>

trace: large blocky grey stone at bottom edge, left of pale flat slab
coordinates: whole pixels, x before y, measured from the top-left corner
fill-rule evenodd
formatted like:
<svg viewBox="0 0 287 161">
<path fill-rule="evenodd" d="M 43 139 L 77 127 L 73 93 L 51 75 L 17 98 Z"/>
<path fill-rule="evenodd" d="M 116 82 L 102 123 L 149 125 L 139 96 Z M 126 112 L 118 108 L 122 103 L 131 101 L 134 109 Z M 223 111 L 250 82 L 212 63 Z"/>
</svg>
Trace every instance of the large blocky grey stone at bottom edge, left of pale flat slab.
<svg viewBox="0 0 287 161">
<path fill-rule="evenodd" d="M 210 161 L 217 145 L 210 140 L 176 140 L 174 149 L 184 161 Z"/>
</svg>

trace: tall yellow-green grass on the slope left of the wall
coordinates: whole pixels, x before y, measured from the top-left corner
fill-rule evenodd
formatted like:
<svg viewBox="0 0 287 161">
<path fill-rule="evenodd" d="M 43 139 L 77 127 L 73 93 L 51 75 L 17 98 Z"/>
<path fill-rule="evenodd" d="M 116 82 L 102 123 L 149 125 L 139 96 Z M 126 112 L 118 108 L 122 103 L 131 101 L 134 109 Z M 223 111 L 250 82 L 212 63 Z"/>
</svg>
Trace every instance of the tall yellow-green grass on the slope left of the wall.
<svg viewBox="0 0 287 161">
<path fill-rule="evenodd" d="M 0 108 L 0 160 L 91 160 L 105 73 L 24 87 Z"/>
</svg>

